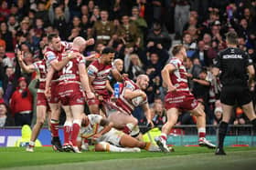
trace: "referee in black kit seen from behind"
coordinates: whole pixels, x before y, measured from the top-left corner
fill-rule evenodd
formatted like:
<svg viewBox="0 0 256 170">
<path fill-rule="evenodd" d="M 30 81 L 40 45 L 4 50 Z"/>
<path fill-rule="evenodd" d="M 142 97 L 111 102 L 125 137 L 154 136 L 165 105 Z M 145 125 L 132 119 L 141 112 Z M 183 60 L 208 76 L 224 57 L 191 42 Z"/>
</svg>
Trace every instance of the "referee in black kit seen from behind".
<svg viewBox="0 0 256 170">
<path fill-rule="evenodd" d="M 248 116 L 254 128 L 256 115 L 251 102 L 249 87 L 254 85 L 254 67 L 250 56 L 237 48 L 238 35 L 230 31 L 226 35 L 228 48 L 219 52 L 213 68 L 213 75 L 218 76 L 222 84 L 220 102 L 223 109 L 223 118 L 219 124 L 218 147 L 215 155 L 226 155 L 223 149 L 224 138 L 227 133 L 229 119 L 233 105 L 240 105 Z"/>
</svg>

